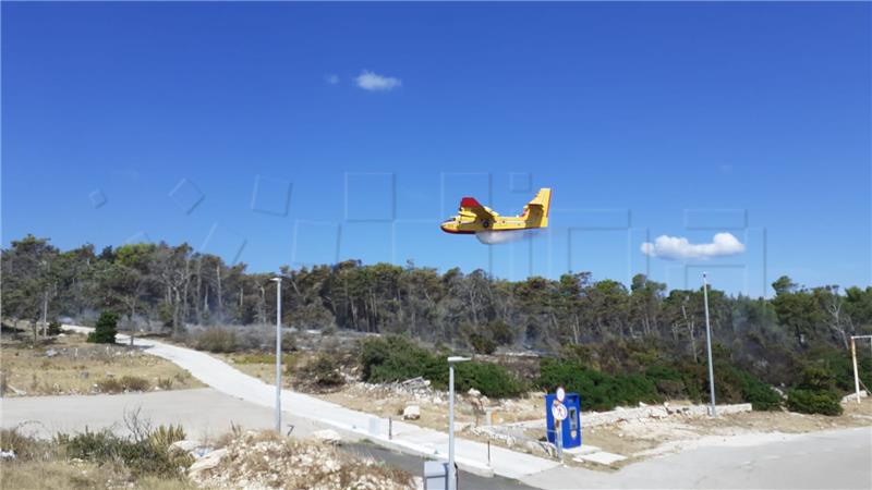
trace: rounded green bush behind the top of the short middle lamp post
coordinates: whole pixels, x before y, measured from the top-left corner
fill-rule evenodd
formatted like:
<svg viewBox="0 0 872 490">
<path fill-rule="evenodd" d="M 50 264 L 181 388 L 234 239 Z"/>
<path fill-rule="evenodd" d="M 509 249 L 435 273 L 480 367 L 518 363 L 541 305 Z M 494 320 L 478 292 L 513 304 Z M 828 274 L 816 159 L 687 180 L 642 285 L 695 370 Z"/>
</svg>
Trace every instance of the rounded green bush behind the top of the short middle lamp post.
<svg viewBox="0 0 872 490">
<path fill-rule="evenodd" d="M 448 387 L 448 360 L 431 354 L 413 341 L 398 335 L 366 339 L 361 344 L 359 362 L 363 380 L 392 382 L 423 377 L 435 388 Z M 455 387 L 475 388 L 486 396 L 518 396 L 524 384 L 505 367 L 493 363 L 470 362 L 457 366 Z"/>
</svg>

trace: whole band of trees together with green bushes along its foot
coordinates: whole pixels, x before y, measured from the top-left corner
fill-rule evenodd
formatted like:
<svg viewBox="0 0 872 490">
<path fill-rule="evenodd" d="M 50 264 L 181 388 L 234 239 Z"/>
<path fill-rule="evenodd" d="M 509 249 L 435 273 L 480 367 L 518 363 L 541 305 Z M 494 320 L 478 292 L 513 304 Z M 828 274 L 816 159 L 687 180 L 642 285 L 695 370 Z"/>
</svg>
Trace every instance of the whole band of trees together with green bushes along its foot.
<svg viewBox="0 0 872 490">
<path fill-rule="evenodd" d="M 365 380 L 425 376 L 441 385 L 448 352 L 526 350 L 544 356 L 536 377 L 476 362 L 459 368 L 459 383 L 494 396 L 565 384 L 583 392 L 588 407 L 705 397 L 701 290 L 667 292 L 642 274 L 628 285 L 586 272 L 513 282 L 481 270 L 351 260 L 281 274 L 284 324 L 404 339 L 363 343 Z M 266 323 L 276 306 L 274 274 L 247 273 L 186 244 L 62 252 L 28 235 L 2 250 L 2 275 L 3 317 L 29 320 L 35 335 L 44 307 L 48 318 L 112 310 L 119 331 L 138 323 L 184 338 L 190 324 Z M 848 339 L 872 332 L 872 287 L 804 287 L 787 277 L 772 286 L 771 299 L 710 291 L 719 400 L 774 408 L 782 403 L 774 385 L 787 390 L 794 409 L 836 411 L 832 401 L 852 388 Z M 863 383 L 872 385 L 868 348 L 861 356 Z"/>
</svg>

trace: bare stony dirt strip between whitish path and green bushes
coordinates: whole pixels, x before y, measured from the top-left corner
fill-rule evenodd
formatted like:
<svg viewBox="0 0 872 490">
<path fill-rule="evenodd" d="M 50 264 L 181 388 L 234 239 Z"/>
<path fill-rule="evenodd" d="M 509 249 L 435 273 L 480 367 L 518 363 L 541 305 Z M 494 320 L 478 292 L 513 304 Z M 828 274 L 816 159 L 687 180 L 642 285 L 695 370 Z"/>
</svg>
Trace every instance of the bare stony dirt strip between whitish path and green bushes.
<svg viewBox="0 0 872 490">
<path fill-rule="evenodd" d="M 288 363 L 300 366 L 306 363 L 312 353 L 294 353 L 286 357 Z M 271 383 L 275 379 L 275 365 L 271 355 L 228 354 L 219 355 L 240 370 Z M 402 383 L 368 384 L 353 380 L 353 373 L 347 373 L 349 382 L 329 391 L 314 391 L 305 383 L 298 382 L 291 375 L 286 375 L 283 384 L 296 390 L 337 403 L 341 406 L 371 413 L 382 417 L 402 419 L 403 409 L 409 405 L 420 408 L 421 417 L 407 422 L 437 430 L 448 427 L 448 393 L 432 390 L 429 387 L 404 387 Z M 286 371 L 287 372 L 287 371 Z M 457 393 L 456 421 L 462 437 L 481 442 L 509 446 L 505 439 L 492 438 L 480 431 L 476 426 L 486 425 L 486 413 L 493 415 L 494 425 L 511 424 L 524 420 L 541 420 L 542 428 L 523 430 L 530 440 L 544 440 L 545 393 L 533 392 L 525 397 L 514 400 L 487 400 L 487 397 L 470 396 Z M 670 401 L 671 406 L 687 405 L 687 401 Z M 802 433 L 819 430 L 872 426 L 872 399 L 864 399 L 861 404 L 844 404 L 845 413 L 838 417 L 823 415 L 803 415 L 790 412 L 749 412 L 724 415 L 717 418 L 689 417 L 674 415 L 663 419 L 644 419 L 623 421 L 613 425 L 585 427 L 584 414 L 581 415 L 583 445 L 594 445 L 603 451 L 620 454 L 627 460 L 603 466 L 593 463 L 579 463 L 567 460 L 570 465 L 583 465 L 592 469 L 614 470 L 633 462 L 675 451 L 682 445 L 700 441 L 703 438 L 728 438 L 736 436 Z M 484 408 L 489 408 L 485 411 Z M 525 444 L 514 441 L 510 445 L 516 451 L 531 452 L 540 456 Z"/>
</svg>

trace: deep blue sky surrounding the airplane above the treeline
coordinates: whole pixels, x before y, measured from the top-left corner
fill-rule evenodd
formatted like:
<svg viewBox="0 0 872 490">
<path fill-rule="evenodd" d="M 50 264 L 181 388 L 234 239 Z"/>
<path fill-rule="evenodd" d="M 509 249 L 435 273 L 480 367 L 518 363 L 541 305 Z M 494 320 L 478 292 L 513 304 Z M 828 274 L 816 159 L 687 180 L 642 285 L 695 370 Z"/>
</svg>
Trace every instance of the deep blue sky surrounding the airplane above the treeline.
<svg viewBox="0 0 872 490">
<path fill-rule="evenodd" d="M 3 2 L 3 245 L 868 285 L 871 25 L 869 3 Z M 438 229 L 541 186 L 535 236 Z M 722 232 L 744 252 L 640 249 Z"/>
</svg>

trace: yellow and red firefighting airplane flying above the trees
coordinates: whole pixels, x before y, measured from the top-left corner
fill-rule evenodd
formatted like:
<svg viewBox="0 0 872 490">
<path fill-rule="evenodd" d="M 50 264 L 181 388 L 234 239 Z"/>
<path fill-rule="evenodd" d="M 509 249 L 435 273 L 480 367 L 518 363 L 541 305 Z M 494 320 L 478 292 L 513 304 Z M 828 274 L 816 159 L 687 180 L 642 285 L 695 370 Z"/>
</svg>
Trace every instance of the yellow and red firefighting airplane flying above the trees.
<svg viewBox="0 0 872 490">
<path fill-rule="evenodd" d="M 498 212 L 482 206 L 474 197 L 460 199 L 460 209 L 453 218 L 443 221 L 446 233 L 471 234 L 485 231 L 500 232 L 546 228 L 552 189 L 541 188 L 520 216 L 499 216 Z"/>
</svg>

